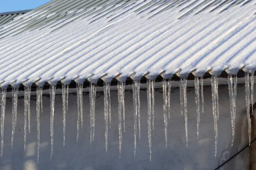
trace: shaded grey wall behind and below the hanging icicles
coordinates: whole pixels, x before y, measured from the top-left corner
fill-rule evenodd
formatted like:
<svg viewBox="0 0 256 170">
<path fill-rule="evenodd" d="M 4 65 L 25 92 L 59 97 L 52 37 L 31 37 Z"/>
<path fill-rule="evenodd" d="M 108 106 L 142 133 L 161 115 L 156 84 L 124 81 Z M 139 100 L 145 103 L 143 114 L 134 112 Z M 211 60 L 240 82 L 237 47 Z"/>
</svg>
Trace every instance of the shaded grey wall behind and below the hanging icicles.
<svg viewBox="0 0 256 170">
<path fill-rule="evenodd" d="M 179 89 L 171 95 L 171 120 L 168 122 L 168 148 L 164 146 L 164 124 L 162 114 L 162 89 L 156 90 L 156 120 L 152 132 L 152 161 L 149 161 L 147 132 L 146 91 L 141 90 L 141 139 L 137 142 L 137 156 L 133 157 L 133 101 L 132 93 L 125 92 L 126 132 L 123 134 L 123 151 L 119 158 L 118 103 L 117 91 L 112 91 L 113 124 L 108 136 L 108 152 L 104 151 L 104 105 L 103 93 L 96 99 L 96 136 L 90 145 L 89 95 L 84 94 L 85 124 L 76 142 L 76 96 L 69 95 L 67 114 L 66 145 L 62 138 L 62 100 L 56 97 L 55 141 L 53 158 L 50 144 L 49 96 L 43 97 L 41 115 L 40 161 L 36 163 L 36 101 L 32 97 L 32 132 L 28 134 L 27 150 L 23 151 L 23 105 L 18 101 L 18 125 L 11 150 L 11 99 L 7 99 L 5 120 L 4 154 L 0 159 L 0 169 L 215 169 L 229 157 L 238 152 L 248 142 L 247 116 L 245 110 L 244 85 L 238 85 L 236 134 L 234 146 L 230 146 L 232 132 L 228 88 L 220 86 L 220 118 L 218 121 L 218 155 L 214 157 L 214 122 L 212 116 L 211 87 L 204 89 L 205 113 L 201 114 L 199 139 L 196 136 L 195 95 L 193 87 L 188 88 L 188 128 L 189 145 L 185 142 L 185 121 L 181 116 Z M 255 166 L 255 165 L 254 165 Z M 249 149 L 232 159 L 222 169 L 249 169 Z"/>
</svg>

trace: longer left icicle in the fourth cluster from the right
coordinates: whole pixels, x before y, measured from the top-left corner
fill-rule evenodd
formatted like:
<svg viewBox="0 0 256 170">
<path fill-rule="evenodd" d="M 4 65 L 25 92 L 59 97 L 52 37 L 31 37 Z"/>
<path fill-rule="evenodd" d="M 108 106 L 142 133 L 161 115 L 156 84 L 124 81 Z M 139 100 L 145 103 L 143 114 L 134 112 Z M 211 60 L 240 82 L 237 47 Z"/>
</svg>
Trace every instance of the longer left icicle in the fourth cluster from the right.
<svg viewBox="0 0 256 170">
<path fill-rule="evenodd" d="M 195 77 L 195 105 L 197 110 L 197 139 L 199 138 L 199 124 L 200 124 L 200 86 L 199 78 Z"/>
</svg>

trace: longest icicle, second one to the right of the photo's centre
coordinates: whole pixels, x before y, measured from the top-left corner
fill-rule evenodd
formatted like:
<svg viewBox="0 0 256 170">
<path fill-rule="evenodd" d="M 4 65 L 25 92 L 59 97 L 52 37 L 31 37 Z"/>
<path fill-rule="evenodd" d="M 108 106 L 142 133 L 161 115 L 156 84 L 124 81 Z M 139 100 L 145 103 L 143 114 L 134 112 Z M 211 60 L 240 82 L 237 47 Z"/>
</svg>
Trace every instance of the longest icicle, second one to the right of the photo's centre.
<svg viewBox="0 0 256 170">
<path fill-rule="evenodd" d="M 151 142 L 151 116 L 152 116 L 152 83 L 147 81 L 147 97 L 148 97 L 148 146 L 150 147 L 150 161 L 152 157 L 152 142 Z"/>
</svg>

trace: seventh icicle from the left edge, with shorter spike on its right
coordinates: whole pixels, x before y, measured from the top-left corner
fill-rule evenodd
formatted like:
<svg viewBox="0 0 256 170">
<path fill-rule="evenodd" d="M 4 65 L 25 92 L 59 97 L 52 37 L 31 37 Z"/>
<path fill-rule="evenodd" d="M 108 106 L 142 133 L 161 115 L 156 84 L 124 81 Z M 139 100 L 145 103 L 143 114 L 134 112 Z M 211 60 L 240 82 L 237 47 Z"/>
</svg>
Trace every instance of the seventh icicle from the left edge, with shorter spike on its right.
<svg viewBox="0 0 256 170">
<path fill-rule="evenodd" d="M 79 138 L 79 126 L 81 122 L 81 126 L 83 124 L 83 84 L 77 83 L 77 138 Z"/>
</svg>

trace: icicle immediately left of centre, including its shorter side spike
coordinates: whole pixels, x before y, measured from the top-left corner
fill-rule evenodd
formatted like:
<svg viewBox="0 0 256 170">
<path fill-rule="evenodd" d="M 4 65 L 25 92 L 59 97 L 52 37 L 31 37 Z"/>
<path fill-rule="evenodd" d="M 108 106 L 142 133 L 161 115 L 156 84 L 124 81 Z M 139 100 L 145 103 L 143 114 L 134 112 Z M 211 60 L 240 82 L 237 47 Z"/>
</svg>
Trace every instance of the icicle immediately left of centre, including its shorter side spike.
<svg viewBox="0 0 256 170">
<path fill-rule="evenodd" d="M 118 93 L 118 101 L 119 101 L 119 157 L 121 157 L 122 151 L 122 143 L 123 143 L 123 127 L 125 128 L 125 82 L 117 83 L 117 93 Z"/>
</svg>

